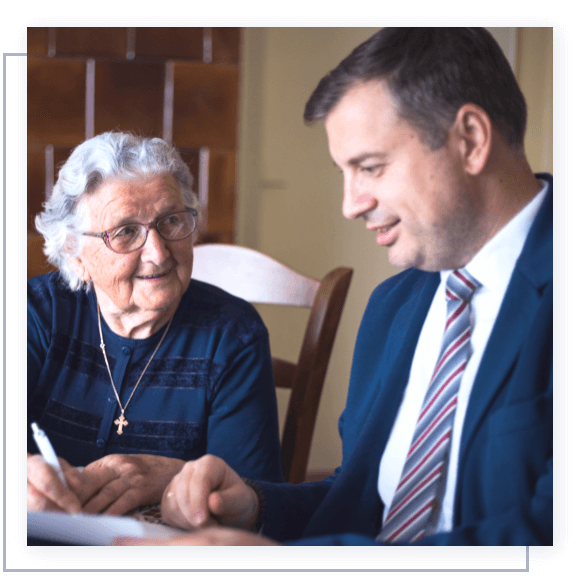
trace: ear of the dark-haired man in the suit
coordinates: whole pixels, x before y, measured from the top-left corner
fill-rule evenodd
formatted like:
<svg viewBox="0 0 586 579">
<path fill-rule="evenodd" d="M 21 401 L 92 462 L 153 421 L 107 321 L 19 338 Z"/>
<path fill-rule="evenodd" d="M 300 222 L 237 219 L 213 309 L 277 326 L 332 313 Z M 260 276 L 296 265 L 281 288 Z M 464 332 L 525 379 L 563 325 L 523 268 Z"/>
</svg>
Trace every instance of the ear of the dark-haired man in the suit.
<svg viewBox="0 0 586 579">
<path fill-rule="evenodd" d="M 469 175 L 479 175 L 488 161 L 492 148 L 493 127 L 490 117 L 478 105 L 460 107 L 452 125 L 462 168 Z"/>
</svg>

